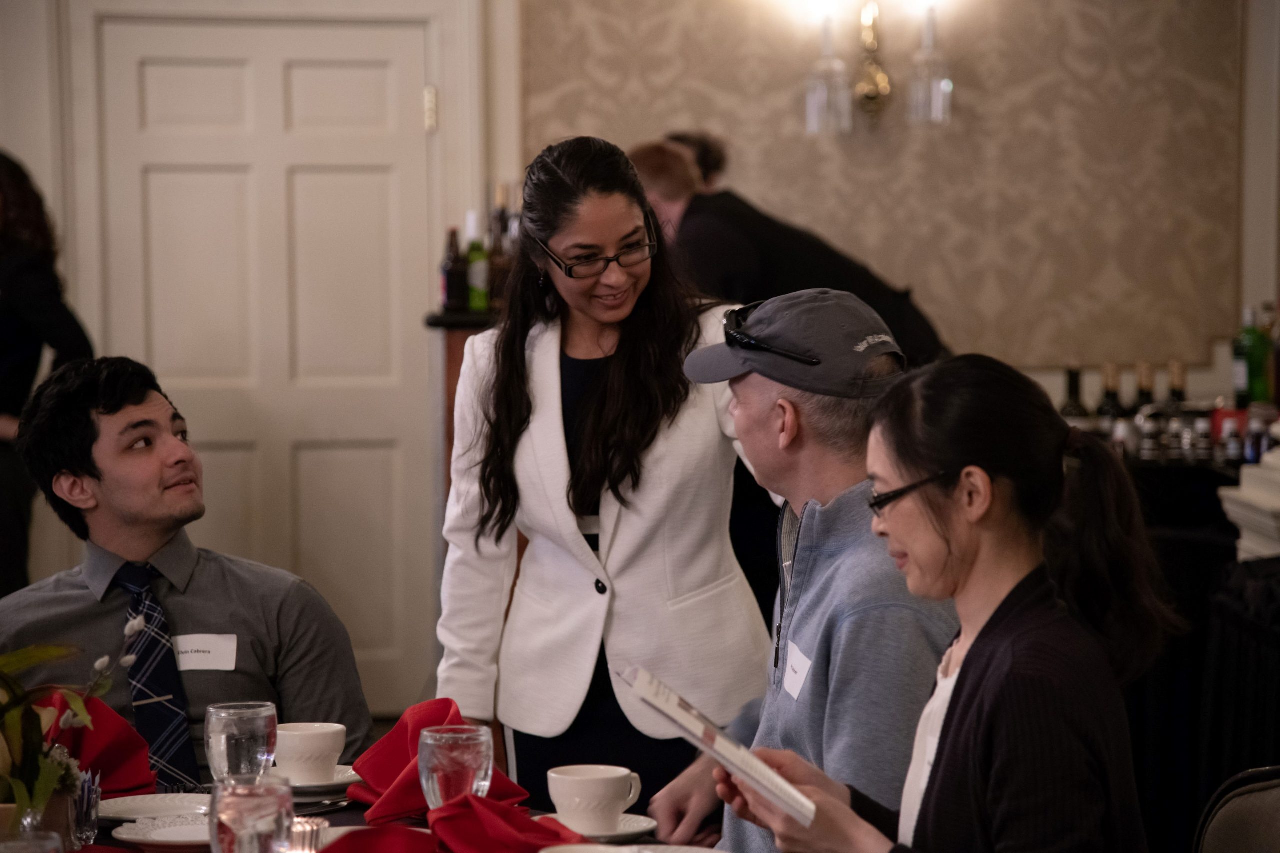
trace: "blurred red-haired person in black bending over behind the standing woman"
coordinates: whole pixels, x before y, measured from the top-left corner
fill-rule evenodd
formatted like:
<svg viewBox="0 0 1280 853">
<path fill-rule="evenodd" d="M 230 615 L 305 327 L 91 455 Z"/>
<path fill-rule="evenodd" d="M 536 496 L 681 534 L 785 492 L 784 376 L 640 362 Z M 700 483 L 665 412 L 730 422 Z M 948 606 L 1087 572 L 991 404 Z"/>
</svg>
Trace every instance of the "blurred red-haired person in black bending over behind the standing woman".
<svg viewBox="0 0 1280 853">
<path fill-rule="evenodd" d="M 684 142 L 653 142 L 630 152 L 684 269 L 704 293 L 749 304 L 806 288 L 845 290 L 884 320 L 909 367 L 947 354 L 910 293 L 890 286 L 818 235 L 769 216 L 737 193 L 707 191 L 699 165 L 709 157 L 709 168 L 723 168 L 723 147 L 718 157 L 713 155 Z"/>
</svg>

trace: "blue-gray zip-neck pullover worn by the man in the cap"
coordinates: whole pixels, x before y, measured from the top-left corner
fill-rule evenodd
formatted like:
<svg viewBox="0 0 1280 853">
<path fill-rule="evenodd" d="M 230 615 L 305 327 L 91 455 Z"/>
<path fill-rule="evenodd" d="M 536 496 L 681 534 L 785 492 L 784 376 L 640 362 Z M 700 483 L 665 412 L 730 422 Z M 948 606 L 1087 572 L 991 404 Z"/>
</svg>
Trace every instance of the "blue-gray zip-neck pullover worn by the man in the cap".
<svg viewBox="0 0 1280 853">
<path fill-rule="evenodd" d="M 920 711 L 960 622 L 950 601 L 916 599 L 872 533 L 864 481 L 778 526 L 769 688 L 728 732 L 794 749 L 828 776 L 897 808 Z M 765 853 L 773 835 L 724 810 L 719 849 Z"/>
</svg>

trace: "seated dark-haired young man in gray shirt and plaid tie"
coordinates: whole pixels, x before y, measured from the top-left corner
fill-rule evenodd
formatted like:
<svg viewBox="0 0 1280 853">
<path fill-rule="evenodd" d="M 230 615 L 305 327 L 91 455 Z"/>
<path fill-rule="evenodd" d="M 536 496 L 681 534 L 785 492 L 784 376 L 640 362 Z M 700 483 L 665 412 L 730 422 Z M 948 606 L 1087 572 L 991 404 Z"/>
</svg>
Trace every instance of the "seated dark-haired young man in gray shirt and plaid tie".
<svg viewBox="0 0 1280 853">
<path fill-rule="evenodd" d="M 183 528 L 205 514 L 202 467 L 147 367 L 99 358 L 59 368 L 27 404 L 18 449 L 86 552 L 81 565 L 0 599 L 0 652 L 74 645 L 86 653 L 29 675 L 83 683 L 141 614 L 146 627 L 127 650 L 137 660 L 102 698 L 151 744 L 165 784 L 200 780 L 212 702 L 270 701 L 280 723 L 342 723 L 347 762 L 369 746 L 351 638 L 320 593 L 188 538 Z"/>
</svg>

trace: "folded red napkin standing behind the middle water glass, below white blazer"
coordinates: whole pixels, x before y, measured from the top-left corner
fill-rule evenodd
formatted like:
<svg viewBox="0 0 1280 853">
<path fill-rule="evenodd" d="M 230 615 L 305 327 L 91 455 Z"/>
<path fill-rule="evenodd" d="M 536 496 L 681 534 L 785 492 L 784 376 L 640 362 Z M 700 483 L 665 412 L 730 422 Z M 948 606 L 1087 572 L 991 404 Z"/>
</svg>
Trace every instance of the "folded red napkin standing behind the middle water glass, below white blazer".
<svg viewBox="0 0 1280 853">
<path fill-rule="evenodd" d="M 426 815 L 426 798 L 417 778 L 417 738 L 430 725 L 466 725 L 466 720 L 453 700 L 419 702 L 404 711 L 396 726 L 365 755 L 356 758 L 353 769 L 364 783 L 351 785 L 347 797 L 371 803 L 365 812 L 365 822 L 370 826 Z M 525 797 L 529 797 L 527 790 L 502 771 L 493 771 L 490 799 L 515 807 Z"/>
</svg>

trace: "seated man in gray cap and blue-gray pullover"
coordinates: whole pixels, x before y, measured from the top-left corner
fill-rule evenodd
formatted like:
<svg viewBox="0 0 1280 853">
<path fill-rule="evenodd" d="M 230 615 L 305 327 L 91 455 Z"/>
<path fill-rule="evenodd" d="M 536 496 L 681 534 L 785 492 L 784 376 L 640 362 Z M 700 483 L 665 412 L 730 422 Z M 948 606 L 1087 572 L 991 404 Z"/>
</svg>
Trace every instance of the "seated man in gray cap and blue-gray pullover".
<svg viewBox="0 0 1280 853">
<path fill-rule="evenodd" d="M 696 382 L 730 382 L 755 477 L 786 499 L 769 688 L 728 730 L 753 747 L 794 749 L 890 808 L 899 807 L 916 720 L 959 629 L 950 602 L 908 592 L 872 533 L 870 413 L 902 363 L 867 303 L 824 289 L 726 312 L 724 343 L 685 361 Z M 658 838 L 681 844 L 699 835 L 721 806 L 713 767 L 701 756 L 653 797 Z M 723 813 L 721 847 L 774 849 L 772 833 Z"/>
</svg>

